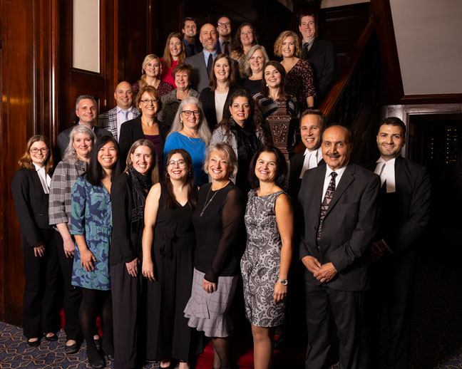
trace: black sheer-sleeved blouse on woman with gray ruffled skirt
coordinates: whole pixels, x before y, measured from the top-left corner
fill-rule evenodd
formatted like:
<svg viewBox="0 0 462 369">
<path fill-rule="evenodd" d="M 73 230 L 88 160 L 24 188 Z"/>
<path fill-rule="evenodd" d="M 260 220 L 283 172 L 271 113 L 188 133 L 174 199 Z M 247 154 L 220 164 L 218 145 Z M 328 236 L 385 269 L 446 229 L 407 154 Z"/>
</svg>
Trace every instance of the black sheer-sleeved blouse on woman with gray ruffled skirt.
<svg viewBox="0 0 462 369">
<path fill-rule="evenodd" d="M 218 276 L 239 274 L 240 256 L 245 248 L 245 203 L 242 192 L 232 182 L 217 191 L 211 187 L 211 183 L 200 187 L 193 214 L 194 267 L 205 273 L 207 281 L 216 283 Z"/>
</svg>

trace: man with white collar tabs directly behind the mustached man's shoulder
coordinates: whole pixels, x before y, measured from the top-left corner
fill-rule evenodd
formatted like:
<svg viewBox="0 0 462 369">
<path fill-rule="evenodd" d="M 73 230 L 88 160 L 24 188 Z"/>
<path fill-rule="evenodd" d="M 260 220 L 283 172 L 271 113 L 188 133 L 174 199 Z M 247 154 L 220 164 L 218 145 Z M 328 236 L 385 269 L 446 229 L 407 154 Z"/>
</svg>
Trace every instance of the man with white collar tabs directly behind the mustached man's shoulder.
<svg viewBox="0 0 462 369">
<path fill-rule="evenodd" d="M 304 172 L 325 164 L 321 150 L 321 135 L 325 125 L 326 117 L 321 110 L 307 109 L 302 113 L 300 137 L 306 149 L 290 159 L 289 194 L 292 199 L 297 199 Z"/>
</svg>

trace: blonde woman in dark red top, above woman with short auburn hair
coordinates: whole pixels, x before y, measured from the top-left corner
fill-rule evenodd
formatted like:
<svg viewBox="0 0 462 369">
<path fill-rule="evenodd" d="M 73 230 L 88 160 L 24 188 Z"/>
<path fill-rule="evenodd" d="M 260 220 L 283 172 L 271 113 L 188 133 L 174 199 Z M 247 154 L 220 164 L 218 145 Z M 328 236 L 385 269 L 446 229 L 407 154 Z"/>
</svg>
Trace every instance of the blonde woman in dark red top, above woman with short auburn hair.
<svg viewBox="0 0 462 369">
<path fill-rule="evenodd" d="M 146 85 L 151 85 L 159 91 L 160 96 L 165 95 L 173 90 L 173 85 L 161 80 L 162 75 L 162 62 L 155 54 L 145 56 L 143 65 L 141 66 L 141 78 L 138 82 L 133 83 L 133 94 L 136 95 L 138 91 Z"/>
</svg>

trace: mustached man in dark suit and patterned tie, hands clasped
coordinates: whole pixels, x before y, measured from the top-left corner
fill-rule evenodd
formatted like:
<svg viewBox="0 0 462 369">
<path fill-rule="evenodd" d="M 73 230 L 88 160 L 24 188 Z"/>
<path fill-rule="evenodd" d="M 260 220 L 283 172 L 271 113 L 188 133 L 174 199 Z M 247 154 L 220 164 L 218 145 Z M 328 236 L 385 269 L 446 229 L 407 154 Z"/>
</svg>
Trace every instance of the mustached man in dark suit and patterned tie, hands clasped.
<svg viewBox="0 0 462 369">
<path fill-rule="evenodd" d="M 349 164 L 351 133 L 333 125 L 322 135 L 327 165 L 307 170 L 299 191 L 304 230 L 299 258 L 305 270 L 308 346 L 305 368 L 326 365 L 329 313 L 340 341 L 340 368 L 357 368 L 364 291 L 369 289 L 365 257 L 376 233 L 380 178 Z"/>
</svg>

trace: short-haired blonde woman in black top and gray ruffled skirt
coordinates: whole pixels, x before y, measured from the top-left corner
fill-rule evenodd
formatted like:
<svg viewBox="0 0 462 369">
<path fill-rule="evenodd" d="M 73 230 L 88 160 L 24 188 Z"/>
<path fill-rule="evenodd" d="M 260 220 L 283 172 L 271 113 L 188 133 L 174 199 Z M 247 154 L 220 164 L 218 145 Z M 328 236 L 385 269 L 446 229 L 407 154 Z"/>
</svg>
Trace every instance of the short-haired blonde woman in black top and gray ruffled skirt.
<svg viewBox="0 0 462 369">
<path fill-rule="evenodd" d="M 204 170 L 212 183 L 202 185 L 193 215 L 196 234 L 193 289 L 185 316 L 188 325 L 212 338 L 213 368 L 231 368 L 228 316 L 245 244 L 244 197 L 230 180 L 237 157 L 225 142 L 207 147 Z"/>
</svg>

